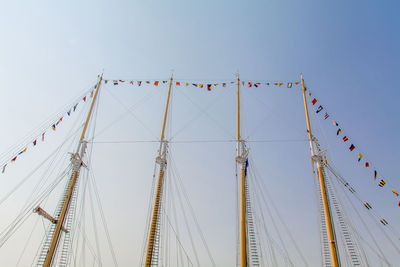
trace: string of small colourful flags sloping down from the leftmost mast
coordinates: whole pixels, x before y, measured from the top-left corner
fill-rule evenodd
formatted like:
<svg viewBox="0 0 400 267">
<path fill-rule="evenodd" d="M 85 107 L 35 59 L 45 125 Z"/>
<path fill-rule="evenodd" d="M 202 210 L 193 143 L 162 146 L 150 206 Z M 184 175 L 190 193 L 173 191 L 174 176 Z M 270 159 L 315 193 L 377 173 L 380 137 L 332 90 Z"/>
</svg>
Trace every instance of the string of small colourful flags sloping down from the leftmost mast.
<svg viewBox="0 0 400 267">
<path fill-rule="evenodd" d="M 73 106 L 71 106 L 71 107 L 68 109 L 68 111 L 65 113 L 66 116 L 67 116 L 67 117 L 70 117 L 70 116 L 72 115 L 72 113 L 74 113 L 74 112 L 77 110 L 78 104 L 79 104 L 80 102 L 83 101 L 83 102 L 85 103 L 86 100 L 88 99 L 88 97 L 92 98 L 92 97 L 93 97 L 93 92 L 94 92 L 95 88 L 96 88 L 96 86 L 93 87 L 93 88 L 90 90 L 90 92 L 89 92 L 88 94 L 86 94 L 85 96 L 83 96 L 82 99 L 81 99 L 80 101 L 76 102 Z M 28 150 L 28 147 L 29 147 L 29 146 L 31 146 L 31 147 L 36 147 L 36 146 L 39 144 L 39 141 L 40 141 L 40 140 L 41 140 L 42 142 L 44 142 L 46 133 L 47 133 L 50 129 L 52 129 L 53 131 L 56 131 L 56 129 L 58 128 L 58 126 L 60 125 L 60 123 L 63 121 L 64 116 L 65 116 L 65 115 L 62 115 L 61 117 L 59 117 L 59 119 L 58 119 L 57 121 L 51 123 L 47 128 L 45 128 L 45 129 L 43 130 L 43 132 L 42 132 L 40 135 L 36 136 L 36 138 L 34 138 L 33 141 L 31 141 L 31 142 L 29 142 L 29 144 L 26 144 L 25 146 L 23 146 L 23 149 L 21 149 L 18 153 L 16 153 L 14 156 L 12 156 L 10 160 L 7 160 L 7 161 L 3 164 L 2 168 L 1 168 L 1 173 L 4 173 L 4 172 L 6 171 L 6 168 L 7 168 L 8 164 L 14 163 L 14 162 L 17 160 L 17 158 L 20 157 L 20 155 L 22 155 L 23 153 L 26 153 L 26 151 Z M 1 165 L 0 165 L 0 166 L 1 166 Z"/>
</svg>

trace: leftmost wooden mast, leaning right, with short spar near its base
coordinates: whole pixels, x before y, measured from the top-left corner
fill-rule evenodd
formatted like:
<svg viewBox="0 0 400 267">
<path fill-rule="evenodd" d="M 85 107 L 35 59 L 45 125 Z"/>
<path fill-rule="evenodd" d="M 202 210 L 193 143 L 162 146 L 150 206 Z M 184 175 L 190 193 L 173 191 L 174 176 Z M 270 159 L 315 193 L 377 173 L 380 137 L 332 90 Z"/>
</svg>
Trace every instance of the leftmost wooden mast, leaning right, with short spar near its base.
<svg viewBox="0 0 400 267">
<path fill-rule="evenodd" d="M 88 113 L 86 121 L 85 121 L 85 125 L 83 126 L 82 134 L 79 139 L 78 148 L 77 148 L 75 154 L 72 155 L 71 161 L 72 161 L 72 165 L 73 165 L 73 172 L 71 175 L 71 179 L 69 180 L 67 193 L 65 194 L 65 197 L 63 200 L 63 205 L 61 208 L 60 215 L 58 216 L 58 219 L 57 219 L 57 224 L 56 224 L 56 227 L 55 227 L 52 239 L 51 239 L 50 247 L 47 252 L 45 262 L 43 264 L 43 266 L 45 266 L 45 267 L 50 267 L 52 265 L 54 254 L 57 249 L 58 241 L 60 240 L 60 233 L 63 229 L 65 216 L 67 215 L 68 209 L 70 206 L 72 193 L 74 192 L 76 181 L 78 180 L 78 177 L 79 177 L 79 171 L 80 171 L 82 165 L 84 164 L 82 161 L 82 158 L 85 155 L 86 144 L 87 144 L 87 141 L 85 141 L 85 134 L 86 134 L 86 130 L 89 125 L 89 122 L 90 122 L 90 118 L 92 117 L 93 107 L 96 102 L 102 80 L 103 80 L 103 74 L 101 74 L 101 76 L 99 77 L 99 81 L 96 86 L 96 93 L 93 97 L 93 101 L 90 106 L 89 113 Z"/>
</svg>

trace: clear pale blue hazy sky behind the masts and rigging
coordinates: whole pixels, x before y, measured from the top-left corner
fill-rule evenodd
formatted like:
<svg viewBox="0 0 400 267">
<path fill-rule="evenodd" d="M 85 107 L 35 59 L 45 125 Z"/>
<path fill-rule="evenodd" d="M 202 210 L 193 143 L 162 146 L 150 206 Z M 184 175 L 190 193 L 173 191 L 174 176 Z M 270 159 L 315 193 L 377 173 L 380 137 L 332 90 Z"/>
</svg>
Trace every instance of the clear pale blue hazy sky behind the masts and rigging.
<svg viewBox="0 0 400 267">
<path fill-rule="evenodd" d="M 56 112 L 73 105 L 103 70 L 105 79 L 167 80 L 173 72 L 179 80 L 212 82 L 234 80 L 237 72 L 245 81 L 297 81 L 303 73 L 331 117 L 388 186 L 400 191 L 399 12 L 398 1 L 2 1 L 0 151 L 16 144 L 22 148 L 24 137 L 40 134 L 38 126 L 58 119 Z M 165 88 L 104 85 L 96 133 L 125 116 L 95 135 L 95 142 L 157 140 Z M 235 264 L 235 144 L 178 141 L 235 139 L 234 90 L 174 87 L 167 135 L 177 141 L 170 145 L 176 167 L 169 166 L 180 173 L 217 266 Z M 306 138 L 306 124 L 300 89 L 243 88 L 242 99 L 244 136 L 270 141 L 249 143 L 254 167 L 262 174 L 259 178 L 268 185 L 310 266 L 319 266 L 310 155 L 307 142 L 301 141 Z M 127 112 L 126 107 L 134 104 L 136 109 Z M 88 106 L 80 104 L 79 114 L 66 118 L 56 132 L 49 132 L 46 142 L 28 149 L 0 174 L 0 198 L 79 127 Z M 388 186 L 377 186 L 372 170 L 359 166 L 356 154 L 336 137 L 330 120 L 316 117 L 312 109 L 310 113 L 314 134 L 328 149 L 328 159 L 374 211 L 400 231 L 400 199 Z M 59 154 L 64 164 L 67 152 L 76 147 L 76 142 L 68 144 Z M 93 145 L 90 169 L 119 266 L 140 262 L 157 148 L 154 142 Z M 40 174 L 17 191 L 18 197 L 0 205 L 1 231 L 39 178 Z M 50 213 L 55 206 L 52 199 L 57 197 L 43 204 Z M 354 203 L 366 215 L 360 203 Z M 377 225 L 371 221 L 370 226 L 375 232 Z M 182 224 L 180 235 L 185 231 Z M 31 232 L 35 234 L 28 240 Z M 32 214 L 0 248 L 2 266 L 15 266 L 21 254 L 20 266 L 30 265 L 43 234 L 42 220 Z M 211 266 L 198 234 L 193 235 L 201 266 Z M 112 266 L 104 231 L 100 237 L 104 266 Z M 287 236 L 284 239 L 295 266 L 303 266 Z M 391 262 L 399 262 L 399 254 L 382 234 L 377 239 Z M 394 241 L 399 246 L 399 240 Z M 25 244 L 29 245 L 23 253 Z M 91 264 L 91 256 L 86 260 Z"/>
</svg>

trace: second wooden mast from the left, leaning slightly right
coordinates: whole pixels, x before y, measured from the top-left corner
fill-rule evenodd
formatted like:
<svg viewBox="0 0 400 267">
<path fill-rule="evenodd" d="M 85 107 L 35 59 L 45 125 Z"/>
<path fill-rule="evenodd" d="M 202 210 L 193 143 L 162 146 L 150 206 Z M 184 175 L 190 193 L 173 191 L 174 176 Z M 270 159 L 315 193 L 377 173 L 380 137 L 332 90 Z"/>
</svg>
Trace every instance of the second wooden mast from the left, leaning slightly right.
<svg viewBox="0 0 400 267">
<path fill-rule="evenodd" d="M 163 120 L 161 137 L 160 137 L 160 148 L 158 150 L 158 156 L 156 159 L 156 163 L 158 163 L 160 165 L 160 171 L 158 174 L 156 194 L 155 194 L 155 198 L 154 198 L 154 205 L 153 205 L 153 211 L 151 214 L 149 234 L 148 234 L 148 238 L 147 238 L 146 258 L 145 258 L 145 263 L 144 263 L 145 267 L 150 267 L 150 266 L 154 265 L 153 254 L 154 254 L 154 248 L 155 248 L 155 243 L 156 243 L 157 224 L 160 221 L 161 200 L 162 200 L 162 192 L 163 192 L 163 185 L 164 185 L 164 171 L 165 171 L 165 167 L 167 165 L 167 159 L 166 159 L 167 142 L 164 141 L 164 133 L 165 133 L 165 126 L 166 126 L 166 122 L 167 122 L 169 100 L 170 100 L 170 96 L 171 96 L 171 88 L 172 88 L 172 76 L 169 80 L 167 104 L 165 105 L 164 120 Z"/>
</svg>

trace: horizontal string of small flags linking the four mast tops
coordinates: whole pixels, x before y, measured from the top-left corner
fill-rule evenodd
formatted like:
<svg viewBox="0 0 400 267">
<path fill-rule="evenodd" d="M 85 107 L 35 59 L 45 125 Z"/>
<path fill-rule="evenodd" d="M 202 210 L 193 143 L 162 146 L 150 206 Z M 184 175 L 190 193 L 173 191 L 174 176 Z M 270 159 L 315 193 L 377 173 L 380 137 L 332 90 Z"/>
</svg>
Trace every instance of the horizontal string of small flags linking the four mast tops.
<svg viewBox="0 0 400 267">
<path fill-rule="evenodd" d="M 168 84 L 167 80 L 104 80 L 105 84 L 112 83 L 113 85 L 120 85 L 120 84 L 130 84 L 130 85 L 135 85 L 135 86 L 142 86 L 143 84 L 147 85 L 154 85 L 158 86 L 160 84 Z M 212 91 L 213 88 L 216 87 L 227 87 L 230 84 L 236 84 L 236 81 L 226 81 L 226 82 L 219 82 L 219 83 L 199 83 L 199 82 L 190 82 L 190 81 L 173 81 L 173 84 L 175 86 L 185 86 L 185 87 L 198 87 L 198 88 L 204 88 L 207 89 L 207 91 Z M 259 86 L 275 86 L 275 87 L 281 87 L 285 86 L 287 88 L 292 88 L 294 85 L 299 85 L 300 82 L 251 82 L 251 81 L 241 81 L 241 85 L 243 87 L 256 87 L 258 88 Z"/>
</svg>

